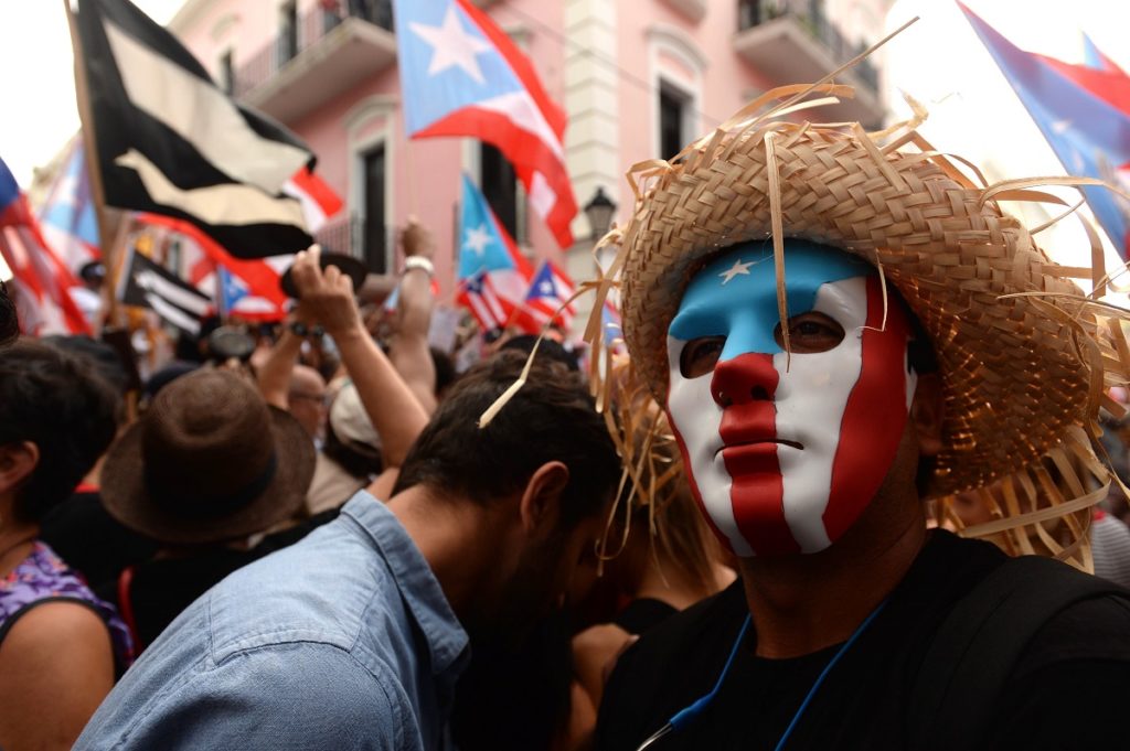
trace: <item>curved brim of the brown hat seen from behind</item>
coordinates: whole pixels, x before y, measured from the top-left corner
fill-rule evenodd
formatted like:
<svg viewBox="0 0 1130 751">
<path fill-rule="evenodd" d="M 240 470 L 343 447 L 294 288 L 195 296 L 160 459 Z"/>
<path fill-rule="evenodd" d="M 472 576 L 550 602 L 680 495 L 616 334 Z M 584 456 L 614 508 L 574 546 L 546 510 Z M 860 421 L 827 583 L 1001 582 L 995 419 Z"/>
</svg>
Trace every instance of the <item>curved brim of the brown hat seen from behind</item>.
<svg viewBox="0 0 1130 751">
<path fill-rule="evenodd" d="M 237 512 L 211 518 L 169 513 L 145 487 L 142 425 L 132 425 L 106 455 L 102 503 L 125 526 L 167 544 L 203 544 L 247 536 L 294 516 L 314 475 L 315 451 L 310 434 L 288 412 L 270 407 L 277 469 L 270 486 Z"/>
</svg>

